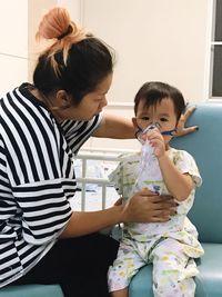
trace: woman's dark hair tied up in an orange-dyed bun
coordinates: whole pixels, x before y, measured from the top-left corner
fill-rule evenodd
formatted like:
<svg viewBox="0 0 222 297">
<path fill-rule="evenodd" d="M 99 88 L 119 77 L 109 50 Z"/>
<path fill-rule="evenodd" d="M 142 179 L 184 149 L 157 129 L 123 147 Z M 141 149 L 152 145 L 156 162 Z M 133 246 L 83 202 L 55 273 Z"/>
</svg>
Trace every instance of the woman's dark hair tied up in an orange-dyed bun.
<svg viewBox="0 0 222 297">
<path fill-rule="evenodd" d="M 103 41 L 85 34 L 70 20 L 68 11 L 56 7 L 40 22 L 37 38 L 51 39 L 33 72 L 34 87 L 49 97 L 65 90 L 78 106 L 113 70 L 113 51 Z"/>
</svg>

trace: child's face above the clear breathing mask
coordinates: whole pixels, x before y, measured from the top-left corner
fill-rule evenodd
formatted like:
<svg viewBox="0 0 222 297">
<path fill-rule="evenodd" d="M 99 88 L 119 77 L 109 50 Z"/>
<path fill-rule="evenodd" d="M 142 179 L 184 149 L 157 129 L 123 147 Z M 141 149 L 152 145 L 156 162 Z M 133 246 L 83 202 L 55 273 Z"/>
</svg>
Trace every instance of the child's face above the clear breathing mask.
<svg viewBox="0 0 222 297">
<path fill-rule="evenodd" d="M 173 102 L 170 98 L 164 98 L 157 106 L 145 107 L 144 100 L 138 106 L 137 123 L 144 130 L 150 125 L 157 125 L 160 132 L 173 130 L 176 127 L 176 116 Z M 164 139 L 170 140 L 169 137 Z"/>
</svg>

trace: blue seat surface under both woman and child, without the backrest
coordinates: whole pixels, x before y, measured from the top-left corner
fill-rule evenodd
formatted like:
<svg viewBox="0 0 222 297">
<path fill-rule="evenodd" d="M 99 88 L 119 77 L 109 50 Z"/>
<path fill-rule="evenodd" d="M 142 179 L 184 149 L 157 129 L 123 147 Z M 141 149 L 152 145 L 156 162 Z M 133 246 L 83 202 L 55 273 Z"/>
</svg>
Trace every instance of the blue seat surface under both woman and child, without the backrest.
<svg viewBox="0 0 222 297">
<path fill-rule="evenodd" d="M 222 293 L 222 244 L 203 244 L 204 256 L 198 259 L 200 275 L 196 276 L 195 297 L 221 297 Z M 63 297 L 59 285 L 8 286 L 0 297 Z M 130 284 L 130 297 L 153 297 L 152 265 L 140 269 Z"/>
</svg>

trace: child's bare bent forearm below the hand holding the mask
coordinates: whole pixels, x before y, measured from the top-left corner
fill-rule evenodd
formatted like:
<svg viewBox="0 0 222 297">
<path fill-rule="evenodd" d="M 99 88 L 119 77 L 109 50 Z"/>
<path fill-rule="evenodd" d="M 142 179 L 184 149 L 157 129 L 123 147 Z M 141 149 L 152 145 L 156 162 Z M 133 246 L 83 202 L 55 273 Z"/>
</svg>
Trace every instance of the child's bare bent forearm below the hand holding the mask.
<svg viewBox="0 0 222 297">
<path fill-rule="evenodd" d="M 169 192 L 179 201 L 185 200 L 193 189 L 189 174 L 181 174 L 165 152 L 159 157 L 159 165 Z"/>
</svg>

